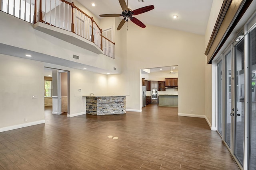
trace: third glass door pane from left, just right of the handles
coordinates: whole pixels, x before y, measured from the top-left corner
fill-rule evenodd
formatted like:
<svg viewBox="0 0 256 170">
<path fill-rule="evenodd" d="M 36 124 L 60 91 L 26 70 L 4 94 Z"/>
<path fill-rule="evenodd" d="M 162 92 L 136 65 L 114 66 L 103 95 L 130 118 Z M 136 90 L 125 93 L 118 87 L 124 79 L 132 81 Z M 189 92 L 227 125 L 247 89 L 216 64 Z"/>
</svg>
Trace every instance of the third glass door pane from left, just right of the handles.
<svg viewBox="0 0 256 170">
<path fill-rule="evenodd" d="M 234 156 L 244 160 L 244 39 L 235 46 Z"/>
</svg>

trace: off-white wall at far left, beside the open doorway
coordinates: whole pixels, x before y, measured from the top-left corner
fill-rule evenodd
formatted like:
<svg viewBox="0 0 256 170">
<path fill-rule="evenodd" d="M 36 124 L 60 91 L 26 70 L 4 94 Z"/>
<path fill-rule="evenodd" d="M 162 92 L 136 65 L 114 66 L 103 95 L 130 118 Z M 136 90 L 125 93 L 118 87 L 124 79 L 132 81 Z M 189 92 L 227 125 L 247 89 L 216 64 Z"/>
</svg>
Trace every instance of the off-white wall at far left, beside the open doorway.
<svg viewBox="0 0 256 170">
<path fill-rule="evenodd" d="M 43 63 L 0 54 L 0 82 L 0 131 L 44 123 Z"/>
</svg>

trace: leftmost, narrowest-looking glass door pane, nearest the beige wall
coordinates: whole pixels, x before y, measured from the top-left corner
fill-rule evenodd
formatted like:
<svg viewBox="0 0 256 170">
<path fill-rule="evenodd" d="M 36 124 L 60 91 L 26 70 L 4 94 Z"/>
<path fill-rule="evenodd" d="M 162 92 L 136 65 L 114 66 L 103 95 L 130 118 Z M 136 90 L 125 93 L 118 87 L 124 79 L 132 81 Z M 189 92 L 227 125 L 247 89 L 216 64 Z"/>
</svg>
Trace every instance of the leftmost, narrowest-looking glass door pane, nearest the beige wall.
<svg viewBox="0 0 256 170">
<path fill-rule="evenodd" d="M 222 61 L 218 63 L 218 132 L 222 135 Z"/>
</svg>

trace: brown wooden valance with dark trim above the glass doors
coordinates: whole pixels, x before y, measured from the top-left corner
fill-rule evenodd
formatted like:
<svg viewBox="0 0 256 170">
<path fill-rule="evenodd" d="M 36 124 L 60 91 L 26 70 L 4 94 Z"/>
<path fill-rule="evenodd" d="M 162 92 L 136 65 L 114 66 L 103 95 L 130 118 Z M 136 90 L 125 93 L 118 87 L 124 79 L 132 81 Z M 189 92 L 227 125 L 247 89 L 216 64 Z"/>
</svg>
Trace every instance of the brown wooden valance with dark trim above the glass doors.
<svg viewBox="0 0 256 170">
<path fill-rule="evenodd" d="M 225 0 L 224 0 L 225 1 Z M 226 39 L 228 39 L 230 33 L 234 30 L 235 26 L 237 25 L 238 21 L 242 18 L 243 14 L 246 12 L 248 7 L 250 6 L 252 0 L 236 0 L 231 1 L 231 4 L 228 6 L 228 10 L 224 15 L 224 11 L 222 12 L 224 15 L 223 20 L 221 21 L 222 17 L 218 17 L 217 23 L 215 24 L 214 31 L 208 43 L 208 46 L 205 51 L 205 55 L 207 55 L 207 64 L 211 64 L 212 60 L 221 49 L 223 44 L 225 43 Z M 227 2 L 226 2 L 227 3 Z M 224 4 L 222 6 L 227 6 Z M 223 7 L 222 10 L 225 8 Z M 221 12 L 220 12 L 221 13 Z M 220 25 L 219 28 L 217 25 Z M 214 35 L 216 35 L 214 37 Z"/>
</svg>

